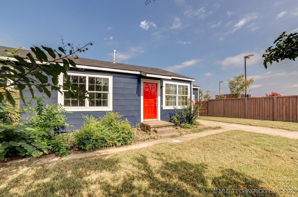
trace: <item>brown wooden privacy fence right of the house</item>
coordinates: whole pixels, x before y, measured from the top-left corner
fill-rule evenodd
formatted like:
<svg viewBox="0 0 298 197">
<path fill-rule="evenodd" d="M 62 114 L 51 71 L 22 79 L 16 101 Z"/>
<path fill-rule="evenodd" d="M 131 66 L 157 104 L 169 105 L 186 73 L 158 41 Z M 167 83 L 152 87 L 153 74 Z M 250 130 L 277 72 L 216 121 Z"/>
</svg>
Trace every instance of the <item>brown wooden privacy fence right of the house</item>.
<svg viewBox="0 0 298 197">
<path fill-rule="evenodd" d="M 208 100 L 200 116 L 298 122 L 298 95 Z"/>
</svg>

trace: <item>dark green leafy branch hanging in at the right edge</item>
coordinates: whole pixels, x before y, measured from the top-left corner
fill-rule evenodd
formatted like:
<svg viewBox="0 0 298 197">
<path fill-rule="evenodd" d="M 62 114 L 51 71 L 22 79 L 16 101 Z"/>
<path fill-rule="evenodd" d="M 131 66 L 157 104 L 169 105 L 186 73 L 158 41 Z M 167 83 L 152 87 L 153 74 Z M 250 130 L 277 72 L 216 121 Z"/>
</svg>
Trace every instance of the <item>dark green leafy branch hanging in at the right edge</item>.
<svg viewBox="0 0 298 197">
<path fill-rule="evenodd" d="M 298 57 L 298 33 L 285 34 L 285 31 L 274 41 L 275 47 L 271 46 L 263 54 L 264 67 L 267 69 L 267 63 L 291 59 L 295 61 Z"/>
</svg>

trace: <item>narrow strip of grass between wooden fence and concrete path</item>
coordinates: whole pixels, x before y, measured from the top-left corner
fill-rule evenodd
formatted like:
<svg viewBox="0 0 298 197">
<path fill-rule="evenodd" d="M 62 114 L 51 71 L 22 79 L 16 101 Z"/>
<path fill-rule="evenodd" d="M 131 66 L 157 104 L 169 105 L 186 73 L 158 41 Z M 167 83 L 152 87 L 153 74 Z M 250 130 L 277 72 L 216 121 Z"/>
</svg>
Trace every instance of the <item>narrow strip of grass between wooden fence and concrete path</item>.
<svg viewBox="0 0 298 197">
<path fill-rule="evenodd" d="M 246 124 L 258 127 L 269 127 L 276 129 L 285 129 L 288 131 L 298 131 L 298 122 L 282 122 L 271 120 L 254 120 L 243 118 L 226 118 L 226 117 L 214 117 L 214 116 L 200 116 L 201 120 L 213 120 L 218 122 L 227 122 L 233 124 Z"/>
</svg>

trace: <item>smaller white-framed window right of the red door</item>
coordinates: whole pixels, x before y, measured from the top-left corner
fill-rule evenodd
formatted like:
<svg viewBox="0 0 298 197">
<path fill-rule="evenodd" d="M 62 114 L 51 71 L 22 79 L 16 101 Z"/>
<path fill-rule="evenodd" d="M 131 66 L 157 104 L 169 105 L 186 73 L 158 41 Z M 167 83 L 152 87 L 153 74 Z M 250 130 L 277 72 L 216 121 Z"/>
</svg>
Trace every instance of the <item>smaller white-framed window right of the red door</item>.
<svg viewBox="0 0 298 197">
<path fill-rule="evenodd" d="M 163 95 L 163 109 L 181 108 L 190 97 L 190 84 L 164 81 Z"/>
</svg>

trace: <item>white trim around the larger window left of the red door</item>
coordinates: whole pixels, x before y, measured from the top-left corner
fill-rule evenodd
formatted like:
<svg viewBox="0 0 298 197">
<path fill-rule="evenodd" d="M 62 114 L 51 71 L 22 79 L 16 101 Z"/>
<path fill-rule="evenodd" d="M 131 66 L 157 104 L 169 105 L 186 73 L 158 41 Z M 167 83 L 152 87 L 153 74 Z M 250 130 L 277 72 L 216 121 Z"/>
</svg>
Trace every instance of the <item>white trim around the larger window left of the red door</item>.
<svg viewBox="0 0 298 197">
<path fill-rule="evenodd" d="M 75 76 L 88 76 L 88 77 L 99 77 L 109 79 L 109 92 L 108 92 L 108 107 L 66 107 L 64 106 L 63 94 L 58 92 L 58 103 L 63 105 L 67 111 L 113 111 L 113 76 L 112 75 L 98 75 L 96 73 L 78 73 L 78 72 L 68 72 L 68 75 Z M 87 83 L 87 81 L 86 81 Z M 59 76 L 59 85 L 63 85 L 63 73 Z M 86 84 L 87 85 L 87 84 Z"/>
</svg>

